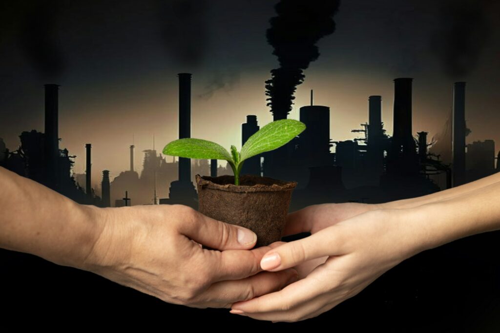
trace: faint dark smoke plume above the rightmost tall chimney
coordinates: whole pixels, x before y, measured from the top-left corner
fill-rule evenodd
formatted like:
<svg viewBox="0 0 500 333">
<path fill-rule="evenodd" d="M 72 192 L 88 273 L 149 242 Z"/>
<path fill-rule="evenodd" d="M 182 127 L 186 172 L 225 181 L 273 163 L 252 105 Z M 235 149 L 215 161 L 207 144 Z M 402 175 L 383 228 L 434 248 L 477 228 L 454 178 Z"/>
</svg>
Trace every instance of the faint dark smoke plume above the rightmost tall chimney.
<svg viewBox="0 0 500 333">
<path fill-rule="evenodd" d="M 441 7 L 441 26 L 431 37 L 431 49 L 447 75 L 466 75 L 474 68 L 485 46 L 490 26 L 486 19 L 489 0 L 448 0 Z"/>
</svg>

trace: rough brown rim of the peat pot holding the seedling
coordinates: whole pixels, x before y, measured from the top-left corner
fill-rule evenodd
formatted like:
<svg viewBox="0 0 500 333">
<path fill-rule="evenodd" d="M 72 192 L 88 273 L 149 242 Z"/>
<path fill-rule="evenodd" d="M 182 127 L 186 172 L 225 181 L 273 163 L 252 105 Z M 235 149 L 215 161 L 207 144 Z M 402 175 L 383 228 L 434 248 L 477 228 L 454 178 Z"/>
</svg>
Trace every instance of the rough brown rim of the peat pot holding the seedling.
<svg viewBox="0 0 500 333">
<path fill-rule="evenodd" d="M 220 176 L 217 176 L 215 178 L 219 177 L 232 177 L 234 180 L 233 175 L 229 174 L 223 174 Z M 243 174 L 240 175 L 241 177 L 244 176 L 253 176 L 253 177 L 258 177 L 258 178 L 265 178 L 268 180 L 275 181 L 277 183 L 273 183 L 272 185 L 264 185 L 264 184 L 255 184 L 255 185 L 234 185 L 234 183 L 229 183 L 229 184 L 217 184 L 211 181 L 209 178 L 213 179 L 214 177 L 211 176 L 201 176 L 199 174 L 195 175 L 196 178 L 196 184 L 198 187 L 201 188 L 211 188 L 211 189 L 219 189 L 227 192 L 270 192 L 270 191 L 287 191 L 287 190 L 293 190 L 297 186 L 297 182 L 294 180 L 280 180 L 280 179 L 275 179 L 275 178 L 270 178 L 270 177 L 262 177 L 262 176 L 257 176 L 255 174 Z M 206 177 L 206 178 L 205 178 Z M 208 178 L 208 179 L 207 179 Z"/>
</svg>

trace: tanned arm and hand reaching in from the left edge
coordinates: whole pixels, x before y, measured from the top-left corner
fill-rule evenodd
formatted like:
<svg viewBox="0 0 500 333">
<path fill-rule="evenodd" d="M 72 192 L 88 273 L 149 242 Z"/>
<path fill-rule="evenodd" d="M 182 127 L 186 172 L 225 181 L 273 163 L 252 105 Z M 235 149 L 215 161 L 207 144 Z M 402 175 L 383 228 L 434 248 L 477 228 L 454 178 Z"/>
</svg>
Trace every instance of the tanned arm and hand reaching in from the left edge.
<svg viewBox="0 0 500 333">
<path fill-rule="evenodd" d="M 0 247 L 99 274 L 191 307 L 230 307 L 279 290 L 293 268 L 262 271 L 272 246 L 180 204 L 81 205 L 0 167 Z M 203 248 L 206 245 L 213 249 Z"/>
</svg>

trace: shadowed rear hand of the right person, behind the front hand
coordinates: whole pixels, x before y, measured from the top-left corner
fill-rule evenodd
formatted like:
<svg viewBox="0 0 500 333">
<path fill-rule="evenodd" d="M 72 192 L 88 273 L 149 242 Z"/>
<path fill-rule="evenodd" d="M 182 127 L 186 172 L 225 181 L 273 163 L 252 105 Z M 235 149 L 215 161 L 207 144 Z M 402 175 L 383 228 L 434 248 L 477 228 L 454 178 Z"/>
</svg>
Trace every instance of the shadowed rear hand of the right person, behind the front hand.
<svg viewBox="0 0 500 333">
<path fill-rule="evenodd" d="M 289 213 L 286 216 L 284 235 L 299 232 L 311 234 L 330 225 L 343 221 L 365 211 L 377 209 L 378 205 L 357 202 L 313 204 Z M 298 278 L 304 278 L 318 265 L 324 263 L 328 256 L 301 262 L 294 266 Z"/>
</svg>

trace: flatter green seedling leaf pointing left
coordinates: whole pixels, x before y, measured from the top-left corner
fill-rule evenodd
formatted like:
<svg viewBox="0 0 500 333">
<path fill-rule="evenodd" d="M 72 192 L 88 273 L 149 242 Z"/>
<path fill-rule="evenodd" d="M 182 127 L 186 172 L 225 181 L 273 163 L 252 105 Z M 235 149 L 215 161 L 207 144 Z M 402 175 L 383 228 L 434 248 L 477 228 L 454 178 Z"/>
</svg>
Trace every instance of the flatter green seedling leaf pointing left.
<svg viewBox="0 0 500 333">
<path fill-rule="evenodd" d="M 220 144 L 192 137 L 185 137 L 169 142 L 163 148 L 163 153 L 171 156 L 225 159 L 233 162 L 231 154 Z"/>
</svg>

